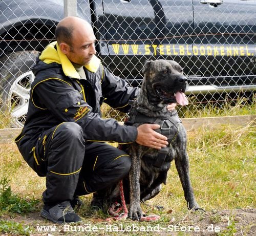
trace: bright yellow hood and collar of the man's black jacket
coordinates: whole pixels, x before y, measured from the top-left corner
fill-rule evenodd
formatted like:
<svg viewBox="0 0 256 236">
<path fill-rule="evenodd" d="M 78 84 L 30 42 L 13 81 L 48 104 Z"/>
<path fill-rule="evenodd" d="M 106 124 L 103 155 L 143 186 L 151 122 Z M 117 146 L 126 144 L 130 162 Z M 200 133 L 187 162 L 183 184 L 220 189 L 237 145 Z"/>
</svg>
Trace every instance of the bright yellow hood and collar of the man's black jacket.
<svg viewBox="0 0 256 236">
<path fill-rule="evenodd" d="M 57 45 L 57 50 L 54 46 Z M 61 52 L 57 42 L 52 42 L 49 44 L 44 51 L 42 51 L 41 55 L 39 56 L 41 61 L 44 61 L 47 64 L 56 62 L 61 64 L 62 70 L 66 76 L 70 76 L 72 78 L 79 79 L 80 76 L 76 72 L 76 69 L 72 65 L 71 61 L 68 57 Z M 100 66 L 100 59 L 95 55 L 92 57 L 90 63 L 84 67 L 91 72 L 96 72 Z"/>
</svg>

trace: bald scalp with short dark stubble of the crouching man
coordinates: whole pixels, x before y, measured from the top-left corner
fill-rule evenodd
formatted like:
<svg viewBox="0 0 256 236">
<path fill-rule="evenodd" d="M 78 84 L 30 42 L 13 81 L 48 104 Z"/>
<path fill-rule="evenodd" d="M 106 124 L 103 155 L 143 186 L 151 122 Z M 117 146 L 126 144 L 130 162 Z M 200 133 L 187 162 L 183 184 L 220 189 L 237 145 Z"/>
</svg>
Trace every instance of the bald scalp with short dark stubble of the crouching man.
<svg viewBox="0 0 256 236">
<path fill-rule="evenodd" d="M 68 16 L 60 20 L 56 29 L 55 29 L 55 38 L 58 42 L 58 45 L 61 42 L 72 47 L 73 38 L 78 36 L 79 33 L 92 33 L 93 29 L 91 25 L 84 19 L 75 16 Z"/>
</svg>

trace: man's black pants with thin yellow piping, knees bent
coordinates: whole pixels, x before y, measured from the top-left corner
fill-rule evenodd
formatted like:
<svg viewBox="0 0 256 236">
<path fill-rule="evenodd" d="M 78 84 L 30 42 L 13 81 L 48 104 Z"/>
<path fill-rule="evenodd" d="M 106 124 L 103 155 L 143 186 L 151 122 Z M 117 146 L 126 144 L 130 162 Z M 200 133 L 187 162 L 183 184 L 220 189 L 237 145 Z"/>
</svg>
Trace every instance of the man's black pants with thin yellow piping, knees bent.
<svg viewBox="0 0 256 236">
<path fill-rule="evenodd" d="M 64 122 L 43 132 L 36 144 L 30 145 L 26 137 L 20 140 L 18 147 L 24 159 L 39 176 L 46 176 L 42 194 L 45 203 L 91 194 L 116 184 L 129 173 L 129 155 L 106 143 L 87 144 L 82 132 L 78 124 Z"/>
</svg>

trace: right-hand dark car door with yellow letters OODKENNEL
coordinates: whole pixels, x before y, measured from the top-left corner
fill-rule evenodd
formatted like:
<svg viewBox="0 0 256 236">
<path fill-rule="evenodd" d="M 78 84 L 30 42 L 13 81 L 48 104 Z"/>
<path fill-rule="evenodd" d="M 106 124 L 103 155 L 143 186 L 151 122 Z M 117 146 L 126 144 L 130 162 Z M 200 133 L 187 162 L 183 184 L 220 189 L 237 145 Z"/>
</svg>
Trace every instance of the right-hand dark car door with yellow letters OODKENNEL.
<svg viewBox="0 0 256 236">
<path fill-rule="evenodd" d="M 204 85 L 198 88 L 205 94 L 249 90 L 255 83 L 256 1 L 221 2 L 193 0 L 194 79 L 190 84 Z"/>
</svg>

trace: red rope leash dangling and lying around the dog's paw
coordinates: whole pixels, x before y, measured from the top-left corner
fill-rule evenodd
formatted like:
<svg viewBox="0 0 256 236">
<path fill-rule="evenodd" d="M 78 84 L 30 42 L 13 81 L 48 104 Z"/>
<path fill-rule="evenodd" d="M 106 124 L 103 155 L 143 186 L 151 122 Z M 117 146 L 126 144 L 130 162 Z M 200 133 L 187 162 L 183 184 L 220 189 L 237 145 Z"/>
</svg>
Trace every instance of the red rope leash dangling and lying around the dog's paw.
<svg viewBox="0 0 256 236">
<path fill-rule="evenodd" d="M 115 202 L 113 203 L 108 212 L 111 216 L 113 216 L 113 218 L 106 218 L 106 221 L 119 221 L 119 220 L 125 220 L 128 217 L 128 210 L 125 204 L 125 200 L 124 200 L 124 193 L 123 193 L 123 182 L 122 180 L 119 182 L 119 188 L 120 188 L 120 197 L 121 197 L 121 203 L 122 205 L 120 205 L 120 203 Z M 119 212 L 123 210 L 123 213 L 119 214 Z M 157 221 L 160 219 L 160 216 L 156 216 L 156 215 L 152 215 L 152 216 L 146 216 L 146 217 L 141 217 L 140 221 Z"/>
</svg>

